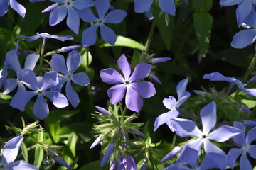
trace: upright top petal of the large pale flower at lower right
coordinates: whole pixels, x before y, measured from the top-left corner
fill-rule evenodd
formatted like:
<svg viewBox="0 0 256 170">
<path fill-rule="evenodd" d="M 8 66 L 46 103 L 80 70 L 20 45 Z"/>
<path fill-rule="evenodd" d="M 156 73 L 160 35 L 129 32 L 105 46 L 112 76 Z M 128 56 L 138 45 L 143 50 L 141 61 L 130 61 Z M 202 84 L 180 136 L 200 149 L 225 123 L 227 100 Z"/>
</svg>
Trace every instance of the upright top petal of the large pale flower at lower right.
<svg viewBox="0 0 256 170">
<path fill-rule="evenodd" d="M 203 125 L 203 134 L 208 135 L 210 130 L 216 125 L 217 115 L 215 101 L 212 101 L 201 109 L 200 117 Z"/>
</svg>

